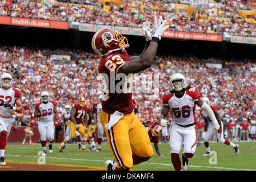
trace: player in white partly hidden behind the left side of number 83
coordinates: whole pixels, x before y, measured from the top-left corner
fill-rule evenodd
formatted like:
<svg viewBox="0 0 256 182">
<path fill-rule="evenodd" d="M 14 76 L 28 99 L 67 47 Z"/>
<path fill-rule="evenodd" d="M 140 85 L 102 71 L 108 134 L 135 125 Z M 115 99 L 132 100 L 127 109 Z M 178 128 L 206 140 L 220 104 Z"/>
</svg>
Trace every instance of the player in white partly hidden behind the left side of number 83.
<svg viewBox="0 0 256 182">
<path fill-rule="evenodd" d="M 91 110 L 91 113 L 93 113 L 93 119 L 97 121 L 97 132 L 98 132 L 98 149 L 96 152 L 101 151 L 101 142 L 102 142 L 102 137 L 104 134 L 104 129 L 101 125 L 101 121 L 99 120 L 99 115 L 101 114 L 101 98 L 102 96 L 99 96 L 99 102 L 96 102 L 93 104 L 93 109 Z"/>
</svg>

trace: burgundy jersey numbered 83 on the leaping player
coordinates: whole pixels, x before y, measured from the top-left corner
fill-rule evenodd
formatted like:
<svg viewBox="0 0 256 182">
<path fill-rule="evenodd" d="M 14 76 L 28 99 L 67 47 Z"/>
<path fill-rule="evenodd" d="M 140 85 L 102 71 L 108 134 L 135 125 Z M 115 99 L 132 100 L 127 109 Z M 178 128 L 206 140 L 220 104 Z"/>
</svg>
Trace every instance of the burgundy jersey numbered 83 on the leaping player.
<svg viewBox="0 0 256 182">
<path fill-rule="evenodd" d="M 130 114 L 134 109 L 132 93 L 127 92 L 130 84 L 122 85 L 121 93 L 115 89 L 117 84 L 122 81 L 115 79 L 118 75 L 118 69 L 122 67 L 130 57 L 124 50 L 122 53 L 111 53 L 103 57 L 98 66 L 100 82 L 102 84 L 102 110 L 106 113 L 113 114 L 115 111 L 120 111 L 123 114 Z M 120 84 L 120 83 L 119 83 Z"/>
</svg>

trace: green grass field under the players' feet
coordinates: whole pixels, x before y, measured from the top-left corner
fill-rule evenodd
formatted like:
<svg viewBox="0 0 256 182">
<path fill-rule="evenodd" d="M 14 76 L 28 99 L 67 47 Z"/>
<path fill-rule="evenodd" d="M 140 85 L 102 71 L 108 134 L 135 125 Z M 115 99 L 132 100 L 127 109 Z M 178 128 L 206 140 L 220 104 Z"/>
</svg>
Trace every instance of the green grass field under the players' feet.
<svg viewBox="0 0 256 182">
<path fill-rule="evenodd" d="M 211 156 L 202 156 L 205 154 L 203 143 L 197 146 L 195 155 L 189 159 L 188 171 L 248 171 L 256 170 L 256 142 L 235 142 L 239 144 L 239 154 L 235 155 L 233 147 L 222 143 L 210 143 L 211 151 L 217 152 L 217 164 L 210 164 Z M 88 147 L 88 146 L 87 146 Z M 153 146 L 154 148 L 154 146 Z M 165 158 L 160 158 L 155 152 L 154 156 L 147 162 L 141 163 L 131 168 L 131 170 L 145 171 L 173 171 L 171 165 L 170 149 L 168 143 L 160 143 L 159 148 Z M 8 162 L 37 163 L 38 151 L 41 151 L 41 144 L 35 145 L 13 145 L 9 143 L 6 146 L 5 159 Z M 107 143 L 102 143 L 102 151 L 89 151 L 82 153 L 78 150 L 78 144 L 67 144 L 64 152 L 58 151 L 58 143 L 54 143 L 53 153 L 47 152 L 46 164 L 66 164 L 74 166 L 93 166 L 105 168 L 106 160 L 113 160 L 110 155 Z M 47 147 L 48 151 L 48 147 Z M 183 151 L 183 148 L 182 148 Z M 180 155 L 181 157 L 181 155 Z M 182 158 L 181 158 L 182 159 Z"/>
</svg>

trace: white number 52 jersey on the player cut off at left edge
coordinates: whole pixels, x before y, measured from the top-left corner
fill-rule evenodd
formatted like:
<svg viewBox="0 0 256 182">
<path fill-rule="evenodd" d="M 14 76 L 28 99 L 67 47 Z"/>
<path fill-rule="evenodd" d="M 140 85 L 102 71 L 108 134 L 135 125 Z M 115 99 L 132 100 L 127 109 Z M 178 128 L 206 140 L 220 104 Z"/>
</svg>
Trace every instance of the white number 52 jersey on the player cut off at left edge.
<svg viewBox="0 0 256 182">
<path fill-rule="evenodd" d="M 12 106 L 15 105 L 15 101 L 21 97 L 21 90 L 16 88 L 10 88 L 9 90 L 4 90 L 0 88 L 0 114 L 6 116 L 13 116 L 13 110 L 3 107 L 3 104 L 9 103 Z"/>
</svg>

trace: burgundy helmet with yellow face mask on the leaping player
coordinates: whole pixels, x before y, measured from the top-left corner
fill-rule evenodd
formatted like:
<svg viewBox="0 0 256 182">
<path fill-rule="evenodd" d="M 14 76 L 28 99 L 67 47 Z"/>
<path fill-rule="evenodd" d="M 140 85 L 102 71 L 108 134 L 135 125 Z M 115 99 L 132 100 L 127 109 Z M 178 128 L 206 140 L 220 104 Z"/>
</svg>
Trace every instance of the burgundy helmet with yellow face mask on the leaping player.
<svg viewBox="0 0 256 182">
<path fill-rule="evenodd" d="M 106 56 L 111 52 L 129 47 L 128 40 L 118 31 L 110 28 L 98 30 L 91 40 L 91 47 L 99 56 Z"/>
</svg>

